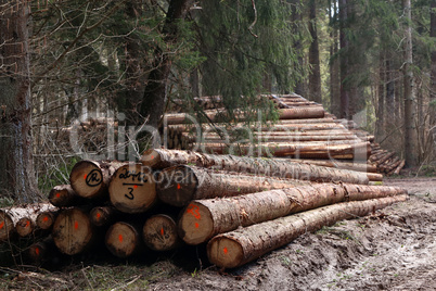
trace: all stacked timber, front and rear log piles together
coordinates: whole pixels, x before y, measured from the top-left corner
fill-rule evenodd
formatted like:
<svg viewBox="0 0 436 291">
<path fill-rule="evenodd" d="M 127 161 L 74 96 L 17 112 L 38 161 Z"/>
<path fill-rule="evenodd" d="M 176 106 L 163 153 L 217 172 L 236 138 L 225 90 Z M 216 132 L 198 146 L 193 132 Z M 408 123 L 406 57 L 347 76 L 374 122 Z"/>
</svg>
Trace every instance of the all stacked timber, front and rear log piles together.
<svg viewBox="0 0 436 291">
<path fill-rule="evenodd" d="M 194 126 L 175 102 L 163 128 L 174 149 L 146 150 L 136 163 L 78 162 L 50 203 L 0 210 L 0 243 L 34 239 L 27 252 L 37 264 L 102 246 L 124 258 L 205 244 L 210 263 L 233 268 L 408 200 L 405 189 L 374 185 L 403 162 L 355 124 L 296 94 L 259 98 L 273 102 L 279 122 L 249 125 L 236 110 L 230 125 L 210 97 L 194 99 L 209 121 Z M 82 125 L 92 126 L 100 121 Z"/>
</svg>

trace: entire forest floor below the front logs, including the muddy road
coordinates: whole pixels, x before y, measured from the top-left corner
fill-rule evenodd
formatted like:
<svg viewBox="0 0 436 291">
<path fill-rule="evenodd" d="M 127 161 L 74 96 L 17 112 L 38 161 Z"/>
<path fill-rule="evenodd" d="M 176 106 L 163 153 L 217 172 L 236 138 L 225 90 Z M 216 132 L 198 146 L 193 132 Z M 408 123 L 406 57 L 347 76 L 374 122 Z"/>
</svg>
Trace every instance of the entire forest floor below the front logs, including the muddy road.
<svg viewBox="0 0 436 291">
<path fill-rule="evenodd" d="M 436 177 L 384 185 L 407 188 L 410 200 L 306 233 L 236 269 L 207 265 L 198 249 L 146 262 L 81 257 L 57 270 L 0 268 L 0 290 L 434 290 Z"/>
</svg>

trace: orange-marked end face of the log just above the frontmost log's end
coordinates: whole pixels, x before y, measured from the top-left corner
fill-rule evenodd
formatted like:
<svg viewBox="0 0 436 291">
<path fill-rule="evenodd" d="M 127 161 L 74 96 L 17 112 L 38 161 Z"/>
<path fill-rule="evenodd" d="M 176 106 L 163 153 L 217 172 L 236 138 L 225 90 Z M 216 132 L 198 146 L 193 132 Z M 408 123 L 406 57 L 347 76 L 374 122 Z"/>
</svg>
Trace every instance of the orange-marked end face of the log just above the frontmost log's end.
<svg viewBox="0 0 436 291">
<path fill-rule="evenodd" d="M 200 244 L 214 236 L 214 220 L 209 210 L 191 202 L 179 219 L 179 236 L 188 244 Z"/>
</svg>

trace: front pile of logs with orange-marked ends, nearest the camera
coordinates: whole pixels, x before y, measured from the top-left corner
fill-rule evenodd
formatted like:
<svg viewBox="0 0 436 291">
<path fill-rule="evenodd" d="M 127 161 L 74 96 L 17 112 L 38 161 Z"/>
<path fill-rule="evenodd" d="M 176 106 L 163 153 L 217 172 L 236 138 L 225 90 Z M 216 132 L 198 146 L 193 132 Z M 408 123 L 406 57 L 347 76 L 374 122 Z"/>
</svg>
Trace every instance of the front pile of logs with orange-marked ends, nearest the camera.
<svg viewBox="0 0 436 291">
<path fill-rule="evenodd" d="M 77 163 L 50 204 L 0 211 L 0 241 L 40 231 L 27 250 L 37 263 L 103 245 L 124 258 L 207 244 L 209 261 L 231 268 L 305 231 L 408 199 L 403 189 L 369 184 L 363 172 L 288 159 L 155 149 L 140 163 Z M 20 213 L 31 214 L 30 232 L 18 230 Z"/>
</svg>

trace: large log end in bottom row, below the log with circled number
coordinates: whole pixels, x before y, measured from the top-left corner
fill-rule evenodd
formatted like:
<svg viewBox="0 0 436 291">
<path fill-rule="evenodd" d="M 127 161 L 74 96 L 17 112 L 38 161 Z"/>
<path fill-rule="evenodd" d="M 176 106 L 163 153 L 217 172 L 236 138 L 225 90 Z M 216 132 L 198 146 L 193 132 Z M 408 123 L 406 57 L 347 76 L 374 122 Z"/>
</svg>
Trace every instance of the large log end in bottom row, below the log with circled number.
<svg viewBox="0 0 436 291">
<path fill-rule="evenodd" d="M 88 214 L 80 208 L 61 211 L 52 230 L 57 249 L 67 255 L 75 255 L 90 248 L 94 235 Z"/>
</svg>

